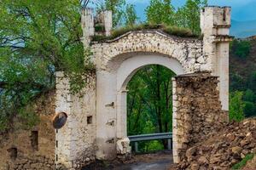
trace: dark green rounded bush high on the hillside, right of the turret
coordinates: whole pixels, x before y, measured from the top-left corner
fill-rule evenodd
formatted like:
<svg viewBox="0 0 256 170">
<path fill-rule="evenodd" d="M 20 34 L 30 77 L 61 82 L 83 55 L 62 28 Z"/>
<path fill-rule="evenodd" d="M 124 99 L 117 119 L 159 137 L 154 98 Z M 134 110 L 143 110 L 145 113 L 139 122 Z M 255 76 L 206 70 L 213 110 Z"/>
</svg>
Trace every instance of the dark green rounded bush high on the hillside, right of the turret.
<svg viewBox="0 0 256 170">
<path fill-rule="evenodd" d="M 234 54 L 240 59 L 246 59 L 247 56 L 250 54 L 252 45 L 249 41 L 240 41 L 235 39 L 232 44 L 231 48 Z"/>
</svg>

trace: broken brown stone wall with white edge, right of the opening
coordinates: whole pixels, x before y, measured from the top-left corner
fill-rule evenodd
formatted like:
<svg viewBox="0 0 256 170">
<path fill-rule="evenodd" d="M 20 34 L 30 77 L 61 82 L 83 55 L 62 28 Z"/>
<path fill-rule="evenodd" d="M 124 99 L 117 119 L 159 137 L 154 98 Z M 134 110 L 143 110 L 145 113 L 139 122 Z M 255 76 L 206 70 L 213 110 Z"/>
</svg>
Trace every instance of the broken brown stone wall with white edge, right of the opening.
<svg viewBox="0 0 256 170">
<path fill-rule="evenodd" d="M 173 78 L 174 161 L 183 160 L 189 146 L 228 122 L 218 97 L 218 77 L 207 73 Z"/>
</svg>

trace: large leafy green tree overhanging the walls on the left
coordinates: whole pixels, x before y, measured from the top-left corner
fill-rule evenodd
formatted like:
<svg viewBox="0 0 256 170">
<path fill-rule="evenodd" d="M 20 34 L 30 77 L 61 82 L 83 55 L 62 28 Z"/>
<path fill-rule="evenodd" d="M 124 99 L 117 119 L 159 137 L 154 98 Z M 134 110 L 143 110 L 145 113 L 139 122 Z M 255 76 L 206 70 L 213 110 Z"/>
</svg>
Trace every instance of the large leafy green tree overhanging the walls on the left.
<svg viewBox="0 0 256 170">
<path fill-rule="evenodd" d="M 93 68 L 80 42 L 80 5 L 66 0 L 1 1 L 1 129 L 55 87 L 55 71 L 67 73 L 73 92 L 85 86 L 83 76 Z"/>
</svg>

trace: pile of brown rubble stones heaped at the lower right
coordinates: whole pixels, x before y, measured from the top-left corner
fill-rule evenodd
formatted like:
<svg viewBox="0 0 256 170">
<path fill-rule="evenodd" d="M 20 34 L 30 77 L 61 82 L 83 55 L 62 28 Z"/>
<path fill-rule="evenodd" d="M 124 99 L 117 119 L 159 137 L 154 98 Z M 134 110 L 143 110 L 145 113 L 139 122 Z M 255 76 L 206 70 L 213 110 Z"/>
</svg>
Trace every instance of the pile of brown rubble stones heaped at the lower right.
<svg viewBox="0 0 256 170">
<path fill-rule="evenodd" d="M 251 153 L 256 154 L 256 118 L 230 122 L 221 131 L 209 134 L 204 141 L 189 148 L 184 159 L 175 168 L 230 169 Z"/>
</svg>

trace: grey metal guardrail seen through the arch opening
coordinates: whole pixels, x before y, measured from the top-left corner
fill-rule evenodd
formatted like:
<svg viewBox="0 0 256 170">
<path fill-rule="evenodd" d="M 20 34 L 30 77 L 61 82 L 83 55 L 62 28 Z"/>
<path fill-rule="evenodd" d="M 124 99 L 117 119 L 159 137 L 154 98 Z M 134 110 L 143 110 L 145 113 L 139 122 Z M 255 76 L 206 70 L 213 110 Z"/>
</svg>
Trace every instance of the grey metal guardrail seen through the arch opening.
<svg viewBox="0 0 256 170">
<path fill-rule="evenodd" d="M 172 133 L 151 133 L 128 136 L 130 142 L 135 142 L 135 151 L 138 152 L 138 142 L 148 140 L 167 139 L 168 150 L 172 150 Z"/>
</svg>

